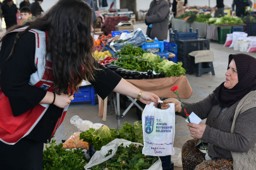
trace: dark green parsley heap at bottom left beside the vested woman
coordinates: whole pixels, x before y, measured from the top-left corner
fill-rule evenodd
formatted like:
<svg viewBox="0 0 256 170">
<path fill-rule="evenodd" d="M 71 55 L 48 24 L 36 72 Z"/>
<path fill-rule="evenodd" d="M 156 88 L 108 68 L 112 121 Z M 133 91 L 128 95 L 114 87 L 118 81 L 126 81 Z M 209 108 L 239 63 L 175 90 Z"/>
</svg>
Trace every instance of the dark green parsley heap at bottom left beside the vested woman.
<svg viewBox="0 0 256 170">
<path fill-rule="evenodd" d="M 56 145 L 56 140 L 52 140 L 51 145 L 44 150 L 43 169 L 44 170 L 83 170 L 87 160 L 82 148 L 66 150 L 63 144 Z"/>
</svg>

